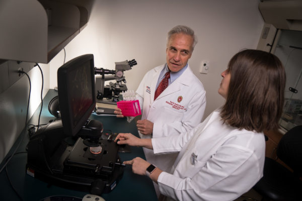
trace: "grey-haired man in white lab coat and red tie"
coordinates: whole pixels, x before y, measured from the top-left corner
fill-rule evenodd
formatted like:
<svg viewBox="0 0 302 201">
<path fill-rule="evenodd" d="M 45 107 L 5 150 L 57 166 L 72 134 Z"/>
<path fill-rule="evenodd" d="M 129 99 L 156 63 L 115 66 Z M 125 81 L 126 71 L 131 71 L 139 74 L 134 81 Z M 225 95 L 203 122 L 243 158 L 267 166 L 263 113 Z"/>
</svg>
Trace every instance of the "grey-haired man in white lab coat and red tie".
<svg viewBox="0 0 302 201">
<path fill-rule="evenodd" d="M 141 120 L 137 121 L 141 138 L 179 135 L 202 121 L 205 90 L 188 65 L 196 43 L 194 31 L 189 27 L 176 26 L 168 33 L 167 63 L 148 71 L 136 90 L 142 108 Z M 155 98 L 156 89 L 167 72 L 170 72 L 169 85 Z M 115 114 L 123 117 L 119 109 Z M 145 148 L 144 153 L 147 161 L 164 171 L 170 170 L 177 157 L 177 153 L 156 156 Z"/>
</svg>

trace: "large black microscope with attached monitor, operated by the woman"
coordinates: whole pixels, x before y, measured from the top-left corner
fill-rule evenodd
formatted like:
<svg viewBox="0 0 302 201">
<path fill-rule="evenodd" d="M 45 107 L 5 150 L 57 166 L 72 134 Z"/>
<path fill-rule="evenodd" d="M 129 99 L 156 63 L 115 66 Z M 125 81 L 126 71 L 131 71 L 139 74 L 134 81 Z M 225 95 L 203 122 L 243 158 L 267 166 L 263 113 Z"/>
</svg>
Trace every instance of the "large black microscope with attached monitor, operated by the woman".
<svg viewBox="0 0 302 201">
<path fill-rule="evenodd" d="M 105 73 L 104 73 L 105 74 Z M 26 172 L 47 183 L 100 195 L 121 179 L 125 165 L 119 145 L 91 118 L 96 107 L 94 57 L 86 54 L 57 71 L 60 120 L 33 134 Z"/>
</svg>

